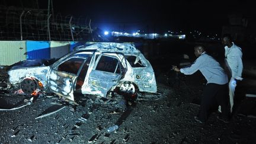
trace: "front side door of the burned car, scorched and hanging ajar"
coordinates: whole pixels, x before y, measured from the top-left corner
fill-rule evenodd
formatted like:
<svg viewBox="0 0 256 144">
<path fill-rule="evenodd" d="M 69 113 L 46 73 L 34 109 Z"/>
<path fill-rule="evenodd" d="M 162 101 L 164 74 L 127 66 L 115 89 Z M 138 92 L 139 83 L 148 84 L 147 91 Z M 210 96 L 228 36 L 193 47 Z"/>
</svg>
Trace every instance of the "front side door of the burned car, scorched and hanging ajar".
<svg viewBox="0 0 256 144">
<path fill-rule="evenodd" d="M 48 85 L 50 91 L 74 101 L 73 91 L 76 78 L 85 60 L 87 60 L 86 57 L 73 56 L 55 66 L 49 75 Z"/>
</svg>

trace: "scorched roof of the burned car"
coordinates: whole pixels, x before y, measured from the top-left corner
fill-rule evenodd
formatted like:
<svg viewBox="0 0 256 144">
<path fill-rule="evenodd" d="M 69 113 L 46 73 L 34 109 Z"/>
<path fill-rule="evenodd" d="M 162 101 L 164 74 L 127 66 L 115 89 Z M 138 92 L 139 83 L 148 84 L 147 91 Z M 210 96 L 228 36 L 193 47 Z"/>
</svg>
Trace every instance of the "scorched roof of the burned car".
<svg viewBox="0 0 256 144">
<path fill-rule="evenodd" d="M 112 42 L 87 42 L 83 46 L 76 47 L 76 50 L 92 50 L 96 52 L 115 52 L 124 54 L 138 54 L 133 43 L 112 43 Z"/>
</svg>

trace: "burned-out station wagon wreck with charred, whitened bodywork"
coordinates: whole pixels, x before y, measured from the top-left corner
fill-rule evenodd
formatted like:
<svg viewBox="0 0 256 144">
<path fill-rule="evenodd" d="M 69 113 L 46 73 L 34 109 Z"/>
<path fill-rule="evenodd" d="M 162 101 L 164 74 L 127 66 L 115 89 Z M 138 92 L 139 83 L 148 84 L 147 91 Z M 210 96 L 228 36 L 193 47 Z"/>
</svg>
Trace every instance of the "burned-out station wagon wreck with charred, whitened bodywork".
<svg viewBox="0 0 256 144">
<path fill-rule="evenodd" d="M 40 65 L 40 66 L 39 66 Z M 76 94 L 108 97 L 119 92 L 156 92 L 151 63 L 131 43 L 87 43 L 52 64 L 14 65 L 8 69 L 8 89 L 28 95 L 55 93 L 76 101 Z"/>
</svg>

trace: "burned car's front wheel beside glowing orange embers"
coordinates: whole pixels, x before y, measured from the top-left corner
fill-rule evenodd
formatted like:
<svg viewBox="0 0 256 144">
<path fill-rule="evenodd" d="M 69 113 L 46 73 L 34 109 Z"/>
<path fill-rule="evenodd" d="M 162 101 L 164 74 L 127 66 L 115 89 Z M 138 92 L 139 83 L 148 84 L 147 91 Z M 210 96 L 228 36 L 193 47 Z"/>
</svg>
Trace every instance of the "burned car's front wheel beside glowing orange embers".
<svg viewBox="0 0 256 144">
<path fill-rule="evenodd" d="M 21 90 L 25 94 L 32 94 L 37 88 L 37 84 L 33 79 L 26 78 L 21 82 Z"/>
</svg>

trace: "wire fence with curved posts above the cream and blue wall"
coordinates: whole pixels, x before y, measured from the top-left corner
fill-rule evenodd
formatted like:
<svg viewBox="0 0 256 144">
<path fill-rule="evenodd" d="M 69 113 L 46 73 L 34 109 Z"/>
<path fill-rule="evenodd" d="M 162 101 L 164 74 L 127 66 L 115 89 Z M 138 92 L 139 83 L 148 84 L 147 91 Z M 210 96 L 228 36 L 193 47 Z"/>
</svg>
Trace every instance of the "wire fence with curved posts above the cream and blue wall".
<svg viewBox="0 0 256 144">
<path fill-rule="evenodd" d="M 91 20 L 0 5 L 0 40 L 91 40 Z"/>
</svg>

